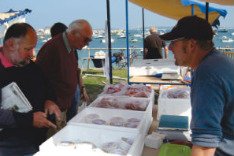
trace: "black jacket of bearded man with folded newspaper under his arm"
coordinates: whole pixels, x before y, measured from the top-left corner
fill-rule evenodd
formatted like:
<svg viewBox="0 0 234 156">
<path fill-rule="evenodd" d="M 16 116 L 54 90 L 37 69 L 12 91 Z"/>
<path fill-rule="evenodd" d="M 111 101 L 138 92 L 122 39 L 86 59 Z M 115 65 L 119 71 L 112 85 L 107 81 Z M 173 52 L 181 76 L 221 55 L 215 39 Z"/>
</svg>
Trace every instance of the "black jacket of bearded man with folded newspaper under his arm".
<svg viewBox="0 0 234 156">
<path fill-rule="evenodd" d="M 33 112 L 44 111 L 46 100 L 55 95 L 40 68 L 33 62 L 25 67 L 4 68 L 0 63 L 0 87 L 16 82 L 33 110 L 18 113 L 0 109 L 0 156 L 24 155 L 36 152 L 45 141 L 47 129 L 33 127 Z"/>
</svg>

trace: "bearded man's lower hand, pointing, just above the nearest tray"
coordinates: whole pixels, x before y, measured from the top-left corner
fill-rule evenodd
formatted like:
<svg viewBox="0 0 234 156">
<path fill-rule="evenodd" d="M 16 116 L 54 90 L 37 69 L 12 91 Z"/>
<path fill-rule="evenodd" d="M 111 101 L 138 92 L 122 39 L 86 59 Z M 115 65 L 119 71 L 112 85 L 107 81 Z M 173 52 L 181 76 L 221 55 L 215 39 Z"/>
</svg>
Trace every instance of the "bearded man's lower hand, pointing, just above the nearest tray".
<svg viewBox="0 0 234 156">
<path fill-rule="evenodd" d="M 44 112 L 35 112 L 33 113 L 33 126 L 37 128 L 52 127 L 57 128 L 55 124 L 47 120 L 46 113 Z"/>
</svg>

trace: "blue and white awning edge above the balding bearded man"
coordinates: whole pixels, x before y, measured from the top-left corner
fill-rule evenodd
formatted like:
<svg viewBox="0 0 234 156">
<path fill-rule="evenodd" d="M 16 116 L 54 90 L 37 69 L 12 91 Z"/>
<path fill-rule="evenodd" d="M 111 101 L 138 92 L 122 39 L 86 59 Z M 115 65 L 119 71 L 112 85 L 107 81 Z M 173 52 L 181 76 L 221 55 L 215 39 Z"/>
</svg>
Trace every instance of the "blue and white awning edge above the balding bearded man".
<svg viewBox="0 0 234 156">
<path fill-rule="evenodd" d="M 0 25 L 3 25 L 4 23 L 6 22 L 9 22 L 19 16 L 23 16 L 23 15 L 26 15 L 27 13 L 31 13 L 32 10 L 29 10 L 29 9 L 25 9 L 23 11 L 19 10 L 19 11 L 14 11 L 12 9 L 10 9 L 8 12 L 5 12 L 5 13 L 13 13 L 12 16 L 8 17 L 8 18 L 4 18 L 4 19 L 0 19 Z"/>
</svg>

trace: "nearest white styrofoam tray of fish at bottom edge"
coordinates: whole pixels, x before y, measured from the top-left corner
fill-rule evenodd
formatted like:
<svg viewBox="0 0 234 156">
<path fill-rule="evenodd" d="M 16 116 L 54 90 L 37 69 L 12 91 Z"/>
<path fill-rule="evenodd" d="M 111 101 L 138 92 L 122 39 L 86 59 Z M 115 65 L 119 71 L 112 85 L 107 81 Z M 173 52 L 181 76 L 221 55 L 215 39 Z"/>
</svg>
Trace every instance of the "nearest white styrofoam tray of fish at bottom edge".
<svg viewBox="0 0 234 156">
<path fill-rule="evenodd" d="M 40 146 L 38 155 L 140 156 L 140 134 L 67 125 Z"/>
</svg>

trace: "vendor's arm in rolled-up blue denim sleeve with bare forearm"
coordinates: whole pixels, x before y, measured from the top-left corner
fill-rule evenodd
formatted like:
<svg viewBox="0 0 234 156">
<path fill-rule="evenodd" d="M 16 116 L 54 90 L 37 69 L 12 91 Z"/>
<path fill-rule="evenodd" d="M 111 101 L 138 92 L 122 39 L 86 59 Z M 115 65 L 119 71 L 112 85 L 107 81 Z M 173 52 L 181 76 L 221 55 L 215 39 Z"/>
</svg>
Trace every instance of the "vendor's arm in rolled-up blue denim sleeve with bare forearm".
<svg viewBox="0 0 234 156">
<path fill-rule="evenodd" d="M 222 83 L 215 74 L 194 72 L 191 91 L 192 156 L 214 155 L 222 139 L 224 100 Z"/>
</svg>

